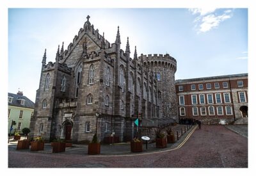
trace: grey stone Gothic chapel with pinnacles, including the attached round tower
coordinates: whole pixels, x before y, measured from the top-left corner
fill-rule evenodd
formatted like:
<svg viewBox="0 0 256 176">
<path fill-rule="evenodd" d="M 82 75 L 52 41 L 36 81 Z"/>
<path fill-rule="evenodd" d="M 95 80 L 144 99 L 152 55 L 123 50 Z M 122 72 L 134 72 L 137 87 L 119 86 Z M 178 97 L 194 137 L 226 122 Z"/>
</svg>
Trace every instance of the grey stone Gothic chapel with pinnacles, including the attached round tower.
<svg viewBox="0 0 256 176">
<path fill-rule="evenodd" d="M 89 19 L 67 50 L 58 47 L 55 63 L 46 63 L 45 49 L 30 137 L 79 142 L 115 132 L 123 141 L 127 132 L 133 137 L 137 117 L 144 134 L 176 122 L 176 60 L 169 54 L 138 57 L 136 47 L 132 59 L 129 38 L 120 49 L 119 27 L 109 44 Z"/>
</svg>

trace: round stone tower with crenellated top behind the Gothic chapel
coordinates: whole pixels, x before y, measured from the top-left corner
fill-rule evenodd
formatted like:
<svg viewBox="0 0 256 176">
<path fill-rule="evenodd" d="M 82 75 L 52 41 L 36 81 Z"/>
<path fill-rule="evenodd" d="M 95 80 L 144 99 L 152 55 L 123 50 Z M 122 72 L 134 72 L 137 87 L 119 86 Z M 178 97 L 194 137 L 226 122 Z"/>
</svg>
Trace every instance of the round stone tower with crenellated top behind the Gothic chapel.
<svg viewBox="0 0 256 176">
<path fill-rule="evenodd" d="M 154 75 L 157 81 L 158 102 L 163 118 L 177 121 L 177 95 L 175 93 L 175 72 L 177 61 L 169 54 L 141 55 L 139 62 L 148 74 Z"/>
</svg>

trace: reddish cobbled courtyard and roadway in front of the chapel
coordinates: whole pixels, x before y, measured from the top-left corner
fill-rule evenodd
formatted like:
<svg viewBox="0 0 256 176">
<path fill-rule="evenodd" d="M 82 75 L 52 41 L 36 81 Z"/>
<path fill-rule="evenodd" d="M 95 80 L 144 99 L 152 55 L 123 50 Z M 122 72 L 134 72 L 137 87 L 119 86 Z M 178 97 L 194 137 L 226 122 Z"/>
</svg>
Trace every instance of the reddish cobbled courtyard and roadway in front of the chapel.
<svg viewBox="0 0 256 176">
<path fill-rule="evenodd" d="M 242 127 L 242 126 L 241 126 Z M 243 127 L 242 127 L 243 128 Z M 246 132 L 246 128 L 242 131 Z M 73 152 L 72 152 L 73 151 Z M 88 156 L 85 147 L 67 152 L 8 150 L 9 168 L 247 168 L 248 139 L 223 125 L 203 125 L 177 150 L 132 156 Z M 20 162 L 22 158 L 22 162 Z"/>
</svg>

